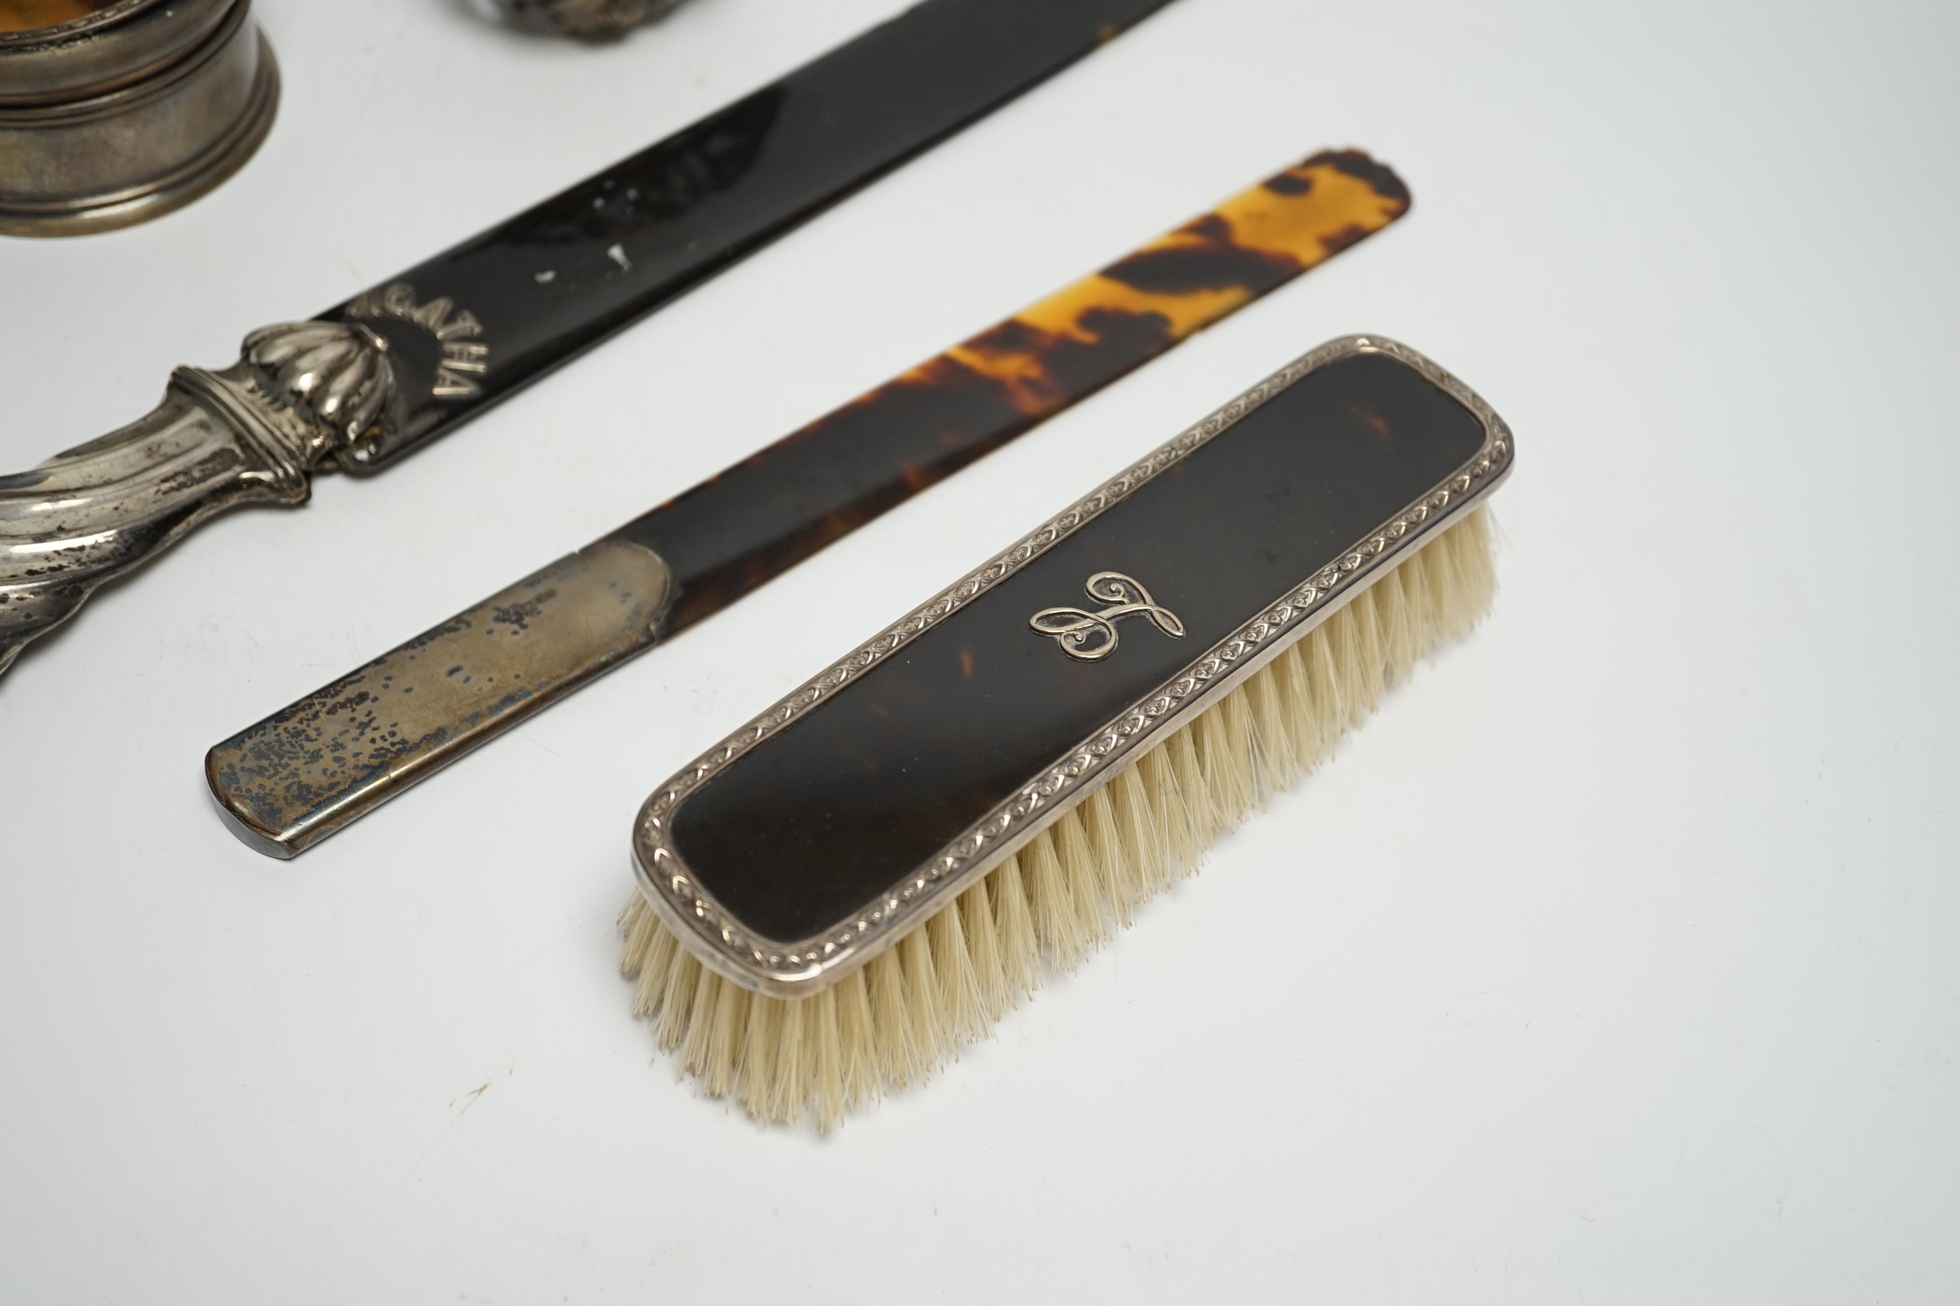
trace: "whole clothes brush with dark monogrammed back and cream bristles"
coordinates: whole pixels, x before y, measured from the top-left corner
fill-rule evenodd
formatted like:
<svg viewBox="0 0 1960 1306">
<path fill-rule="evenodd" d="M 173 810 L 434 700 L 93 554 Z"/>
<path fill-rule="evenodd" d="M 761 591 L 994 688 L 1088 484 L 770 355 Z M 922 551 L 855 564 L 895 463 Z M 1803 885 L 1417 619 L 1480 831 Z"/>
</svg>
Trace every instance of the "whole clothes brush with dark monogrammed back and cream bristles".
<svg viewBox="0 0 1960 1306">
<path fill-rule="evenodd" d="M 759 1118 L 923 1079 L 1478 621 L 1509 468 L 1394 341 L 1260 382 L 647 799 L 637 1014 Z"/>
</svg>

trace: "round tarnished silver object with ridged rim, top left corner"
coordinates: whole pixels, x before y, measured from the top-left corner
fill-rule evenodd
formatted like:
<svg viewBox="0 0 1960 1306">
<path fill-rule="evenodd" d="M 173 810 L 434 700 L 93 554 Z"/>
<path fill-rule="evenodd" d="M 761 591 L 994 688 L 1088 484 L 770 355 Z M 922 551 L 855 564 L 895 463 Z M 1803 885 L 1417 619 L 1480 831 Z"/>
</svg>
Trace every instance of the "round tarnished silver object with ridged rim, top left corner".
<svg viewBox="0 0 1960 1306">
<path fill-rule="evenodd" d="M 78 235 L 180 208 L 251 159 L 276 108 L 251 0 L 110 0 L 0 29 L 0 233 Z"/>
</svg>

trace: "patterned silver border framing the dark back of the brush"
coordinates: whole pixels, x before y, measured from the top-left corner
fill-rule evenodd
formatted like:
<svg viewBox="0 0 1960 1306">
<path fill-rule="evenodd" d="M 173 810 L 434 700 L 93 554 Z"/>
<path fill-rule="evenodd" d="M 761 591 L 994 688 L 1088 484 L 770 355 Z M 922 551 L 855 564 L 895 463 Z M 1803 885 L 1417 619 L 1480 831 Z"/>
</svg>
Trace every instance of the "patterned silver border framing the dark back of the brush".
<svg viewBox="0 0 1960 1306">
<path fill-rule="evenodd" d="M 680 850 L 668 836 L 672 811 L 690 793 L 713 779 L 745 752 L 796 723 L 898 648 L 906 646 L 960 607 L 1013 576 L 1031 558 L 1080 531 L 1139 486 L 1160 476 L 1174 462 L 1213 441 L 1241 417 L 1296 384 L 1309 372 L 1352 354 L 1388 354 L 1415 368 L 1429 382 L 1470 409 L 1484 427 L 1484 444 L 1456 472 L 1441 480 L 1405 509 L 1364 535 L 1335 562 L 1299 582 L 1256 617 L 1201 652 L 1170 679 L 1137 699 L 1094 734 L 1070 748 L 1041 775 L 1021 785 L 1013 797 L 972 822 L 958 838 L 913 869 L 876 901 L 864 903 L 841 926 L 796 942 L 751 934 L 723 910 L 711 893 L 694 883 Z M 772 997 L 808 997 L 870 961 L 896 944 L 915 924 L 986 875 L 994 865 L 1027 844 L 1049 822 L 1088 797 L 1098 785 L 1135 762 L 1156 740 L 1209 707 L 1294 640 L 1333 615 L 1390 566 L 1413 552 L 1446 521 L 1490 493 L 1511 470 L 1511 431 L 1460 380 L 1396 341 L 1380 335 L 1348 335 L 1280 368 L 1258 386 L 1217 409 L 1149 458 L 1078 501 L 1013 548 L 966 574 L 925 605 L 862 644 L 857 652 L 809 679 L 772 709 L 696 758 L 661 785 L 639 809 L 633 828 L 633 867 L 643 897 L 661 922 L 704 965 L 725 979 Z"/>
</svg>

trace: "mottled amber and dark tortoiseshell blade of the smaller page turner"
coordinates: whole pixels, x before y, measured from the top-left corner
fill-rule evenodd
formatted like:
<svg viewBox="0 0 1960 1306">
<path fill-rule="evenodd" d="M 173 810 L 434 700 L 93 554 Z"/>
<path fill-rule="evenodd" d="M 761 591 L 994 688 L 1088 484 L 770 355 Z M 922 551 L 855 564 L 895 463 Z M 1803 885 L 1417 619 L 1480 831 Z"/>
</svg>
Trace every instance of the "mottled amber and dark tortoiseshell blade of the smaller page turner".
<svg viewBox="0 0 1960 1306">
<path fill-rule="evenodd" d="M 666 558 L 688 627 L 1407 210 L 1368 155 L 1313 155 L 615 535 Z"/>
</svg>

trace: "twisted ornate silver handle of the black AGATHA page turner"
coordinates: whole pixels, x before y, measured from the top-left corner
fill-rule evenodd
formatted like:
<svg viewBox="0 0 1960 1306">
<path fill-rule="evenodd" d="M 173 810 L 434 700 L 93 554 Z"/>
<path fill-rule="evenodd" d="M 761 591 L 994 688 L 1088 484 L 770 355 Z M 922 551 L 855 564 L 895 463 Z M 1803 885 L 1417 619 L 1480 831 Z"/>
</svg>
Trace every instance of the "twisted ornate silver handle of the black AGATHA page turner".
<svg viewBox="0 0 1960 1306">
<path fill-rule="evenodd" d="M 304 503 L 310 474 L 384 421 L 388 341 L 298 321 L 245 337 L 223 372 L 176 368 L 163 403 L 0 476 L 0 672 L 96 585 L 239 503 Z"/>
</svg>

